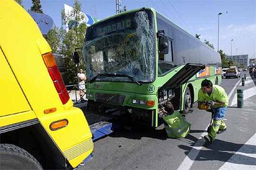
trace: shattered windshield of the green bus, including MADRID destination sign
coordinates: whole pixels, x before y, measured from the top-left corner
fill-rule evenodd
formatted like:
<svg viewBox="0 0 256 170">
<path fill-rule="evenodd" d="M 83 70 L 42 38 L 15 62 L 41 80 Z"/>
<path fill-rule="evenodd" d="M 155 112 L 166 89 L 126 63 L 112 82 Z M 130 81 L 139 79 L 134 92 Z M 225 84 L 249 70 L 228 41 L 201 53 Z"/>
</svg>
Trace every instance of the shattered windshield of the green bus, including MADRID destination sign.
<svg viewBox="0 0 256 170">
<path fill-rule="evenodd" d="M 83 45 L 89 81 L 155 79 L 153 14 L 140 11 L 90 26 Z"/>
</svg>

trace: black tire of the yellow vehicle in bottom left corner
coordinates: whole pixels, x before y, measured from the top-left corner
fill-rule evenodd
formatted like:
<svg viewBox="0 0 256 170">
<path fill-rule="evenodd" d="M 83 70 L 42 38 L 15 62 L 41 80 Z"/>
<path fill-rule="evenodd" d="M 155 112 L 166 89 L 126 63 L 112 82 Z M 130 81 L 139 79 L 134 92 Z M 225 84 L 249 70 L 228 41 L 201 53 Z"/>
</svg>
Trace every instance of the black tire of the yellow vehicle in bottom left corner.
<svg viewBox="0 0 256 170">
<path fill-rule="evenodd" d="M 43 169 L 27 151 L 12 144 L 0 144 L 1 169 Z"/>
</svg>

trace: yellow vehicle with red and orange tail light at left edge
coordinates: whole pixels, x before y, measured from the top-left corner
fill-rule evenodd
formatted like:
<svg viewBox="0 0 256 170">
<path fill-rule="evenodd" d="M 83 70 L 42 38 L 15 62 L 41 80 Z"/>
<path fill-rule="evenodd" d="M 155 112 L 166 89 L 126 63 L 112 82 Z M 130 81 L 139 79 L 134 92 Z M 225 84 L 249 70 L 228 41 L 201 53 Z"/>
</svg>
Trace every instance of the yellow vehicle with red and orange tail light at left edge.
<svg viewBox="0 0 256 170">
<path fill-rule="evenodd" d="M 92 133 L 73 107 L 51 48 L 15 1 L 0 1 L 0 168 L 72 169 Z"/>
</svg>

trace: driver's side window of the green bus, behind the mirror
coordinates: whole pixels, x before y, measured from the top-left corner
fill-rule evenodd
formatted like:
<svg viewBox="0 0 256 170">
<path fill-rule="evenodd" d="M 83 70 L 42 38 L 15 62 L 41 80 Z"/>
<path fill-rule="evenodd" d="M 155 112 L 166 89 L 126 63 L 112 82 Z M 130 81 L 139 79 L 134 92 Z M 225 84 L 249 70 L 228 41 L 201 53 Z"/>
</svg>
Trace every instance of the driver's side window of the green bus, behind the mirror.
<svg viewBox="0 0 256 170">
<path fill-rule="evenodd" d="M 174 68 L 173 60 L 173 41 L 169 39 L 169 52 L 168 54 L 158 54 L 158 76 Z"/>
</svg>

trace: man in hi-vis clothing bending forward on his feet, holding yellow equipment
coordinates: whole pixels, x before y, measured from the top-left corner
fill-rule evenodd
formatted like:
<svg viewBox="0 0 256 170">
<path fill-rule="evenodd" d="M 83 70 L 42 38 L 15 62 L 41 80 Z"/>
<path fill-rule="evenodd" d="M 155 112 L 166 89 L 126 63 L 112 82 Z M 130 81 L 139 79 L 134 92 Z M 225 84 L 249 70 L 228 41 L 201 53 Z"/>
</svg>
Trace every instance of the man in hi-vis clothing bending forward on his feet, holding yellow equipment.
<svg viewBox="0 0 256 170">
<path fill-rule="evenodd" d="M 223 87 L 213 85 L 210 80 L 204 79 L 201 83 L 201 89 L 198 91 L 198 108 L 202 103 L 210 105 L 210 111 L 213 114 L 213 123 L 210 124 L 208 135 L 204 136 L 205 140 L 211 144 L 216 134 L 226 131 L 226 124 L 223 118 L 228 107 L 228 95 Z"/>
</svg>

